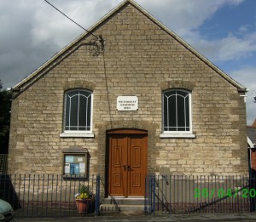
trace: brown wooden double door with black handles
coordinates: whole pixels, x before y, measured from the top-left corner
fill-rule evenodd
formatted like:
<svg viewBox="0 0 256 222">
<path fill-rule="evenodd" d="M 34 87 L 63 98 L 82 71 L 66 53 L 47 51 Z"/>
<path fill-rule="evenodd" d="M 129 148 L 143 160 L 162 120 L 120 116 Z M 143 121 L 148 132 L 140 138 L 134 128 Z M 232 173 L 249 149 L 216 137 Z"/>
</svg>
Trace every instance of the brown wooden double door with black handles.
<svg viewBox="0 0 256 222">
<path fill-rule="evenodd" d="M 118 130 L 108 134 L 108 192 L 111 196 L 144 196 L 148 134 Z"/>
</svg>

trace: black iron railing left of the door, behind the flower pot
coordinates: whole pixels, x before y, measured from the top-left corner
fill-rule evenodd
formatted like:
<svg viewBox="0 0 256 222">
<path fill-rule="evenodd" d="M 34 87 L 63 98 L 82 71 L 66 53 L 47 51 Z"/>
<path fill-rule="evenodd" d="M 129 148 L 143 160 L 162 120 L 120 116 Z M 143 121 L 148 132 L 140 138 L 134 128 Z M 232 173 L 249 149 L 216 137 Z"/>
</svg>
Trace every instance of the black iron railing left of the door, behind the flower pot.
<svg viewBox="0 0 256 222">
<path fill-rule="evenodd" d="M 79 213 L 76 194 L 89 185 L 90 207 Z M 0 198 L 15 209 L 17 218 L 96 216 L 100 209 L 100 176 L 67 179 L 61 175 L 1 175 Z"/>
</svg>

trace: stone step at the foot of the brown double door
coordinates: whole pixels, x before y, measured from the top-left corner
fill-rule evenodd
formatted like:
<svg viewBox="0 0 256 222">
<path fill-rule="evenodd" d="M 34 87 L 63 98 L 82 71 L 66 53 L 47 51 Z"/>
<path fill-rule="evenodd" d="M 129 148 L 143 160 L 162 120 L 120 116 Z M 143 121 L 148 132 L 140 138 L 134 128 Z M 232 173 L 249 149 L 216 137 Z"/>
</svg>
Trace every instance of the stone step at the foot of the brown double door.
<svg viewBox="0 0 256 222">
<path fill-rule="evenodd" d="M 115 198 L 121 212 L 144 212 L 144 198 Z M 111 198 L 102 200 L 101 212 L 118 212 Z"/>
</svg>

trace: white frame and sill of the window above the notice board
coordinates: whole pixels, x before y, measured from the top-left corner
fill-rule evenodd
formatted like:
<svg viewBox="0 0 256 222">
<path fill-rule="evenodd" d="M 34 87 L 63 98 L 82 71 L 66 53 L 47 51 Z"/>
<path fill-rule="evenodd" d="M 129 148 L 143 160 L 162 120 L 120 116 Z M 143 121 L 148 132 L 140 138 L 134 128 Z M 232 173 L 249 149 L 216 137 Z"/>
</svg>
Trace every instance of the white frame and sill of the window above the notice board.
<svg viewBox="0 0 256 222">
<path fill-rule="evenodd" d="M 90 93 L 91 104 L 90 104 L 90 130 L 67 130 L 66 127 L 66 109 L 67 109 L 67 93 L 72 91 L 86 91 Z M 63 115 L 63 133 L 60 134 L 60 137 L 87 137 L 94 138 L 92 132 L 92 116 L 93 116 L 93 92 L 84 88 L 73 88 L 67 90 L 64 94 L 64 115 Z"/>
</svg>

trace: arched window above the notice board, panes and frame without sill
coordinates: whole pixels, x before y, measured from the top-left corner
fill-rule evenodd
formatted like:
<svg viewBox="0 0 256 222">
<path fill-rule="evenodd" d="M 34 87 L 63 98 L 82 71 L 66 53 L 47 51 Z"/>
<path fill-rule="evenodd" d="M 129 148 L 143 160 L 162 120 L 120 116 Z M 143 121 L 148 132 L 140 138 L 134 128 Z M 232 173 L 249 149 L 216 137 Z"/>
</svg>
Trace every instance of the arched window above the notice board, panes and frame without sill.
<svg viewBox="0 0 256 222">
<path fill-rule="evenodd" d="M 91 132 L 92 95 L 85 89 L 72 89 L 65 93 L 64 132 Z"/>
</svg>

